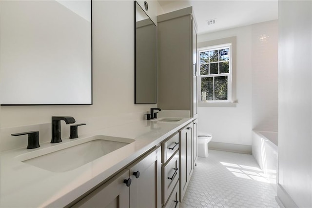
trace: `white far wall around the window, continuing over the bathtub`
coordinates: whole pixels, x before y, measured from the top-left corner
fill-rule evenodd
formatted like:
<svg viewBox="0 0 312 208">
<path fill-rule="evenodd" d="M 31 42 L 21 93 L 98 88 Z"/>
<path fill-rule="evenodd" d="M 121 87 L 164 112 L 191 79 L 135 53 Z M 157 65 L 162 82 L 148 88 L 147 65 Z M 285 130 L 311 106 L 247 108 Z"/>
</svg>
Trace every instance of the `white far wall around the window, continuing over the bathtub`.
<svg viewBox="0 0 312 208">
<path fill-rule="evenodd" d="M 268 44 L 259 42 L 259 35 L 262 34 L 270 36 Z M 232 36 L 237 38 L 236 97 L 238 104 L 236 104 L 236 107 L 199 107 L 198 129 L 199 131 L 213 133 L 212 141 L 214 142 L 250 146 L 252 143 L 253 121 L 262 122 L 263 117 L 267 118 L 272 114 L 276 117 L 273 121 L 277 121 L 277 21 L 199 35 L 198 42 Z M 267 85 L 267 83 L 262 82 L 267 75 L 258 77 L 258 70 L 261 70 L 263 74 L 273 74 L 275 76 L 274 79 L 270 78 L 272 84 L 269 83 L 269 86 L 276 85 L 274 91 L 270 92 L 269 86 L 263 87 Z M 257 95 L 253 95 L 255 93 L 254 87 Z M 261 99 L 267 98 L 268 94 L 275 95 L 275 100 L 270 101 L 273 104 L 268 104 L 270 108 L 262 107 L 263 101 Z M 268 99 L 271 99 L 271 97 Z M 261 100 L 261 102 L 254 106 L 254 100 Z M 257 110 L 265 112 L 266 115 L 254 114 L 254 111 Z M 274 110 L 276 112 L 272 113 Z"/>
</svg>

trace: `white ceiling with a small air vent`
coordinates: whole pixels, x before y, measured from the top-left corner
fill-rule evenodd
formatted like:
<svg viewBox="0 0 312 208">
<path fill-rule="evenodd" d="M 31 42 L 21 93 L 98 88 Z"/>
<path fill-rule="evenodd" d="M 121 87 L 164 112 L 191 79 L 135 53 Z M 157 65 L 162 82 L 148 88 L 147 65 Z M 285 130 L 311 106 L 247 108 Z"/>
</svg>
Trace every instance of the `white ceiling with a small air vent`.
<svg viewBox="0 0 312 208">
<path fill-rule="evenodd" d="M 164 13 L 193 6 L 197 33 L 278 19 L 278 0 L 158 0 Z M 215 24 L 207 21 L 216 19 Z"/>
</svg>

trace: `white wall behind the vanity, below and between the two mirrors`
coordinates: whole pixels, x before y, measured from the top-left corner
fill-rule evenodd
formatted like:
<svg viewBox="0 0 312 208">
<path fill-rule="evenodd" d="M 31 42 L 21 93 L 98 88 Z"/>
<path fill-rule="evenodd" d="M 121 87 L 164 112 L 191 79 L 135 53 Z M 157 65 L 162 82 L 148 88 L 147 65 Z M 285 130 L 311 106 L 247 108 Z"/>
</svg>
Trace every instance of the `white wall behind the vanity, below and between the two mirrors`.
<svg viewBox="0 0 312 208">
<path fill-rule="evenodd" d="M 144 8 L 143 2 L 139 1 Z M 1 106 L 1 140 L 4 128 L 50 124 L 53 115 L 73 116 L 78 122 L 129 113 L 143 119 L 146 111 L 156 107 L 134 104 L 134 1 L 96 0 L 92 4 L 93 105 Z M 149 1 L 147 13 L 156 22 L 161 13 L 157 1 Z"/>
</svg>

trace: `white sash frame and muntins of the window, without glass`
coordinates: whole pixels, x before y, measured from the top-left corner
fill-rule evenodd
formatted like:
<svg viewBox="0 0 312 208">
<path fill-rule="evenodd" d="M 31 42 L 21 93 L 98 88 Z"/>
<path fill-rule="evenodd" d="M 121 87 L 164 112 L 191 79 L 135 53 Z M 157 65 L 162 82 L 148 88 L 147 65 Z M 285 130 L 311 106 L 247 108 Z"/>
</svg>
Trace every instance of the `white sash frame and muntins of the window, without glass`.
<svg viewBox="0 0 312 208">
<path fill-rule="evenodd" d="M 222 49 L 226 49 L 229 48 L 229 72 L 228 73 L 218 73 L 218 74 L 209 74 L 209 75 L 201 75 L 200 74 L 200 53 L 202 52 L 206 52 L 206 51 L 213 51 L 213 50 L 222 50 Z M 231 103 L 232 102 L 232 43 L 226 43 L 226 44 L 222 44 L 222 45 L 214 45 L 214 46 L 210 46 L 210 47 L 204 47 L 204 48 L 200 48 L 198 50 L 198 56 L 197 56 L 197 63 L 199 64 L 198 66 L 198 72 L 199 72 L 199 91 L 200 91 L 200 96 L 198 97 L 199 102 L 202 103 Z M 218 58 L 219 58 L 219 54 L 218 54 Z M 219 63 L 220 61 L 216 62 Z M 210 62 L 209 62 L 210 63 Z M 208 64 L 209 64 L 208 63 Z M 214 62 L 212 62 L 214 63 Z M 220 67 L 219 67 L 220 70 Z M 227 95 L 227 100 L 215 100 L 215 93 L 214 93 L 214 100 L 213 101 L 203 101 L 201 100 L 201 78 L 205 78 L 205 77 L 223 77 L 223 76 L 228 76 L 228 95 Z M 214 92 L 215 92 L 215 82 L 214 84 Z"/>
</svg>

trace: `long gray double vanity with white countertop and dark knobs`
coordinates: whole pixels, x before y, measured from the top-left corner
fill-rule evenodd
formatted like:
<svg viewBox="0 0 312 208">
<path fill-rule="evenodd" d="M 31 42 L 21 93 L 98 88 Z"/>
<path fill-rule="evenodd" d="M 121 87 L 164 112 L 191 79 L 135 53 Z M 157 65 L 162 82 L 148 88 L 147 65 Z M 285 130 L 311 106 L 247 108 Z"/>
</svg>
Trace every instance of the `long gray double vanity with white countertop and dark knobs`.
<svg viewBox="0 0 312 208">
<path fill-rule="evenodd" d="M 195 165 L 193 121 L 140 120 L 2 152 L 0 207 L 176 207 Z"/>
</svg>

